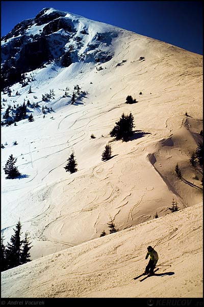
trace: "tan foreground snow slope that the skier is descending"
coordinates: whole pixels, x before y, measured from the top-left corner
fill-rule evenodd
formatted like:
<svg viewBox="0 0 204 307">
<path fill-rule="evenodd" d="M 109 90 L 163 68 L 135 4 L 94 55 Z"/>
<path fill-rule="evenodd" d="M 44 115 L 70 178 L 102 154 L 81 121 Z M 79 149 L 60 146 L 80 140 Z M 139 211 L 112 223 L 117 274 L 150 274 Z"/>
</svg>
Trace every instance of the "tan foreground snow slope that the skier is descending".
<svg viewBox="0 0 204 307">
<path fill-rule="evenodd" d="M 161 267 L 140 282 L 149 244 Z M 202 204 L 3 272 L 2 296 L 202 297 Z"/>
</svg>

